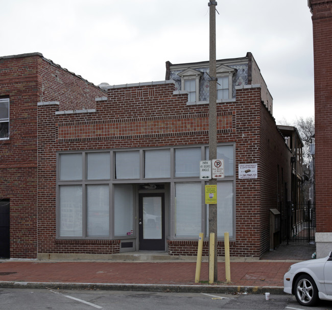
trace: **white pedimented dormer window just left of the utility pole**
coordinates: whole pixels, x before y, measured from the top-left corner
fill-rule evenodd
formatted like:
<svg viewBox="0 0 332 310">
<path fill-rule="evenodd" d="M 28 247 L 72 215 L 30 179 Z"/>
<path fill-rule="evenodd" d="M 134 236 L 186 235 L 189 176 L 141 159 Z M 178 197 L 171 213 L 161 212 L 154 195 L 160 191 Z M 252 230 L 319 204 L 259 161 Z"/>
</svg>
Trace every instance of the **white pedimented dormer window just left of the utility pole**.
<svg viewBox="0 0 332 310">
<path fill-rule="evenodd" d="M 181 73 L 181 90 L 188 92 L 188 102 L 199 101 L 199 80 L 203 73 L 192 68 L 188 68 Z"/>
</svg>

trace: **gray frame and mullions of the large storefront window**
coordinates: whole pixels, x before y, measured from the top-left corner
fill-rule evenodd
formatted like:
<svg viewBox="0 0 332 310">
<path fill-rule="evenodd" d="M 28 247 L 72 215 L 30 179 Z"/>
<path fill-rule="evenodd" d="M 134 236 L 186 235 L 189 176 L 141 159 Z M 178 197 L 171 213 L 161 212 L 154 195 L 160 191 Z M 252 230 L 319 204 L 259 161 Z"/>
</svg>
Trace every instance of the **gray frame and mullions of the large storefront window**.
<svg viewBox="0 0 332 310">
<path fill-rule="evenodd" d="M 218 180 L 218 182 L 223 181 L 232 181 L 233 182 L 233 238 L 235 240 L 235 143 L 234 142 L 226 142 L 223 144 L 218 144 L 218 146 L 232 146 L 233 148 L 233 175 L 232 176 L 225 176 L 224 179 Z M 201 184 L 202 189 L 202 231 L 205 231 L 205 220 L 206 220 L 206 205 L 204 201 L 204 186 L 208 184 L 208 181 L 200 180 L 199 176 L 188 176 L 188 177 L 175 177 L 175 150 L 176 149 L 183 149 L 183 148 L 201 148 L 201 158 L 202 160 L 206 160 L 206 148 L 207 145 L 192 145 L 192 146 L 174 146 L 174 147 L 160 147 L 160 148 L 132 148 L 132 149 L 111 149 L 111 150 L 73 150 L 73 151 L 60 151 L 57 152 L 57 187 L 56 187 L 56 214 L 57 214 L 57 239 L 59 240 L 73 240 L 73 239 L 82 239 L 82 240 L 119 240 L 119 239 L 135 239 L 137 237 L 137 223 L 136 216 L 137 216 L 137 209 L 138 209 L 138 200 L 137 200 L 137 193 L 138 193 L 138 184 L 144 183 L 164 183 L 168 184 L 167 188 L 169 190 L 169 198 L 167 198 L 169 209 L 165 216 L 168 217 L 168 239 L 169 240 L 179 240 L 181 238 L 177 238 L 175 236 L 175 184 L 178 182 L 199 182 Z M 170 169 L 171 169 L 171 176 L 169 178 L 145 178 L 144 177 L 144 158 L 145 158 L 145 151 L 146 150 L 161 150 L 161 149 L 168 149 L 170 150 Z M 139 178 L 137 179 L 115 179 L 114 176 L 114 156 L 115 152 L 119 151 L 139 151 Z M 91 152 L 110 152 L 110 179 L 98 179 L 98 180 L 88 180 L 87 179 L 87 154 Z M 82 180 L 60 180 L 60 156 L 61 154 L 68 154 L 68 153 L 82 153 Z M 199 163 L 198 163 L 199 164 Z M 77 237 L 61 237 L 59 235 L 59 227 L 60 227 L 60 210 L 59 210 L 59 187 L 61 185 L 82 185 L 82 216 L 83 216 L 83 234 L 81 238 Z M 86 185 L 89 184 L 108 184 L 109 185 L 109 235 L 107 237 L 87 237 L 87 206 L 86 206 Z M 132 184 L 133 185 L 133 228 L 134 233 L 130 236 L 116 236 L 114 237 L 114 198 L 113 198 L 113 185 L 114 184 Z M 167 196 L 165 196 L 166 198 Z M 183 238 L 182 238 L 183 239 Z M 186 238 L 190 239 L 190 238 Z M 222 240 L 223 236 L 219 236 L 219 239 Z"/>
</svg>

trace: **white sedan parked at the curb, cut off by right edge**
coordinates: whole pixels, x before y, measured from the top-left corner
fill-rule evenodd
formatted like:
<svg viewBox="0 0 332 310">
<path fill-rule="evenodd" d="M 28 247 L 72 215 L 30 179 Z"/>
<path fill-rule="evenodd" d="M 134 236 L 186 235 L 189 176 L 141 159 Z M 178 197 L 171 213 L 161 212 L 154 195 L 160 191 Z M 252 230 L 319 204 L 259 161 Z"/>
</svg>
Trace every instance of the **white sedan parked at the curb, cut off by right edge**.
<svg viewBox="0 0 332 310">
<path fill-rule="evenodd" d="M 283 276 L 283 286 L 303 306 L 312 306 L 318 299 L 332 300 L 332 251 L 325 258 L 292 265 Z"/>
</svg>

